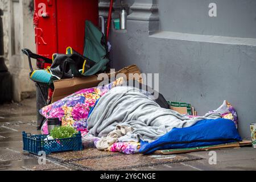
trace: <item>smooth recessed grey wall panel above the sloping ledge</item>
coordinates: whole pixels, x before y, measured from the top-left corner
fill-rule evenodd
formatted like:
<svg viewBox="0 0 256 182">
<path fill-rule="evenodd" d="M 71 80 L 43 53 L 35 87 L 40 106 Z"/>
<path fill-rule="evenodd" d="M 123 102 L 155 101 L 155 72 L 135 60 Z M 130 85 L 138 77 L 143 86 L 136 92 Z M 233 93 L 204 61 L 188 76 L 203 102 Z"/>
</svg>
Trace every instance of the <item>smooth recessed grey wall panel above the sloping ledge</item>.
<svg viewBox="0 0 256 182">
<path fill-rule="evenodd" d="M 217 17 L 209 18 L 209 3 Z M 160 29 L 188 34 L 256 38 L 256 1 L 160 0 Z"/>
</svg>

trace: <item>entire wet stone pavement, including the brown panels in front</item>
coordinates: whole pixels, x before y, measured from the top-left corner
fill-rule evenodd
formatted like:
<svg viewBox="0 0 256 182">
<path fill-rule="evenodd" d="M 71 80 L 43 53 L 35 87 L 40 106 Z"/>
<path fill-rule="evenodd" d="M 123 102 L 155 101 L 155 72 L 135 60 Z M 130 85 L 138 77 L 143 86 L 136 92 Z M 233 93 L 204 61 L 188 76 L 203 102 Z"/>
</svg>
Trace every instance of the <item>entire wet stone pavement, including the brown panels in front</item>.
<svg viewBox="0 0 256 182">
<path fill-rule="evenodd" d="M 256 170 L 256 149 L 252 147 L 216 150 L 216 164 L 209 164 L 209 151 L 125 155 L 96 149 L 51 154 L 46 164 L 39 164 L 39 156 L 23 151 L 22 131 L 40 133 L 35 98 L 0 105 L 0 170 Z"/>
</svg>

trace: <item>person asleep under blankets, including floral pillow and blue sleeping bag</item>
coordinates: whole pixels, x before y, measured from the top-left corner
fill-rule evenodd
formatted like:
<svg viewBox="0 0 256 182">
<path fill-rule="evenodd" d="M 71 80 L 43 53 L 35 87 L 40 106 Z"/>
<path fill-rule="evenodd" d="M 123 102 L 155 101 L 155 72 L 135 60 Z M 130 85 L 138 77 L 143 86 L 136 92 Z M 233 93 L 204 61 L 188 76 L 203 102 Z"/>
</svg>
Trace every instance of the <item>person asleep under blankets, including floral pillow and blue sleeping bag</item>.
<svg viewBox="0 0 256 182">
<path fill-rule="evenodd" d="M 59 118 L 62 125 L 71 125 L 82 131 L 85 138 L 88 135 L 95 137 L 93 141 L 99 150 L 125 154 L 241 140 L 236 125 L 223 119 L 223 113 L 212 111 L 189 118 L 168 109 L 161 94 L 158 98 L 152 97 L 156 91 L 150 87 L 129 85 L 115 81 L 106 86 L 82 89 L 43 107 L 40 113 L 46 118 Z M 48 132 L 46 126 L 44 123 L 43 133 Z M 188 130 L 192 127 L 193 130 Z M 212 131 L 214 127 L 219 132 Z"/>
</svg>

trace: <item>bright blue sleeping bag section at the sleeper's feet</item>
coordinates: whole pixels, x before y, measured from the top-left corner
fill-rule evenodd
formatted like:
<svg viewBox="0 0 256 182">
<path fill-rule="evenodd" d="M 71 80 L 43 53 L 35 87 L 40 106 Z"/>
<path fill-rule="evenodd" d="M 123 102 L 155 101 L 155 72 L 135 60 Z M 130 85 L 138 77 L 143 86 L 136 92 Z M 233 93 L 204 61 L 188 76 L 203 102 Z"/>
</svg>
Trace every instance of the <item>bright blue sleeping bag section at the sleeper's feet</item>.
<svg viewBox="0 0 256 182">
<path fill-rule="evenodd" d="M 154 142 L 141 140 L 139 152 L 150 154 L 156 150 L 211 146 L 241 140 L 236 125 L 230 119 L 204 119 L 191 127 L 174 128 Z"/>
</svg>

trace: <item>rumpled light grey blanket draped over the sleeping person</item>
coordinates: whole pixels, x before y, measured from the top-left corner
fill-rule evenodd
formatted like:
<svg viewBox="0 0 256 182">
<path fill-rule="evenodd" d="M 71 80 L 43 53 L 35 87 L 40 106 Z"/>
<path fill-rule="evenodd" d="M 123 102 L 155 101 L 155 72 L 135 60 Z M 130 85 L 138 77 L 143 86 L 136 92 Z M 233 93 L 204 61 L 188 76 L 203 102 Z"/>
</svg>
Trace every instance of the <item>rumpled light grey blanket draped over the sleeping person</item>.
<svg viewBox="0 0 256 182">
<path fill-rule="evenodd" d="M 142 139 L 151 142 L 174 127 L 189 127 L 201 119 L 220 117 L 217 113 L 196 118 L 183 117 L 174 110 L 160 107 L 137 88 L 117 86 L 100 98 L 87 122 L 89 133 L 96 137 L 106 137 L 115 126 L 125 125 L 134 130 L 119 141 L 139 142 Z"/>
</svg>

